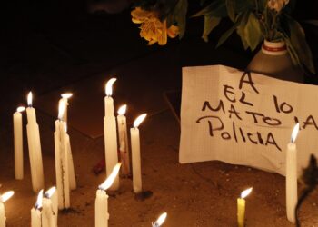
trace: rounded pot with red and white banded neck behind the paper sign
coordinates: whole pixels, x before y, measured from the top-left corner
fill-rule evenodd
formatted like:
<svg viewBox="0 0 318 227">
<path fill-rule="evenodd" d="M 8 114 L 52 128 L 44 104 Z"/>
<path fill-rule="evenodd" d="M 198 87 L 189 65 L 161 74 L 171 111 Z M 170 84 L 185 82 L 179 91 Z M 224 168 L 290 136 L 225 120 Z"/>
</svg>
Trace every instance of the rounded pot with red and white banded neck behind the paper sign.
<svg viewBox="0 0 318 227">
<path fill-rule="evenodd" d="M 262 49 L 253 57 L 247 70 L 277 79 L 303 83 L 303 72 L 293 65 L 284 42 L 264 41 Z"/>
</svg>

